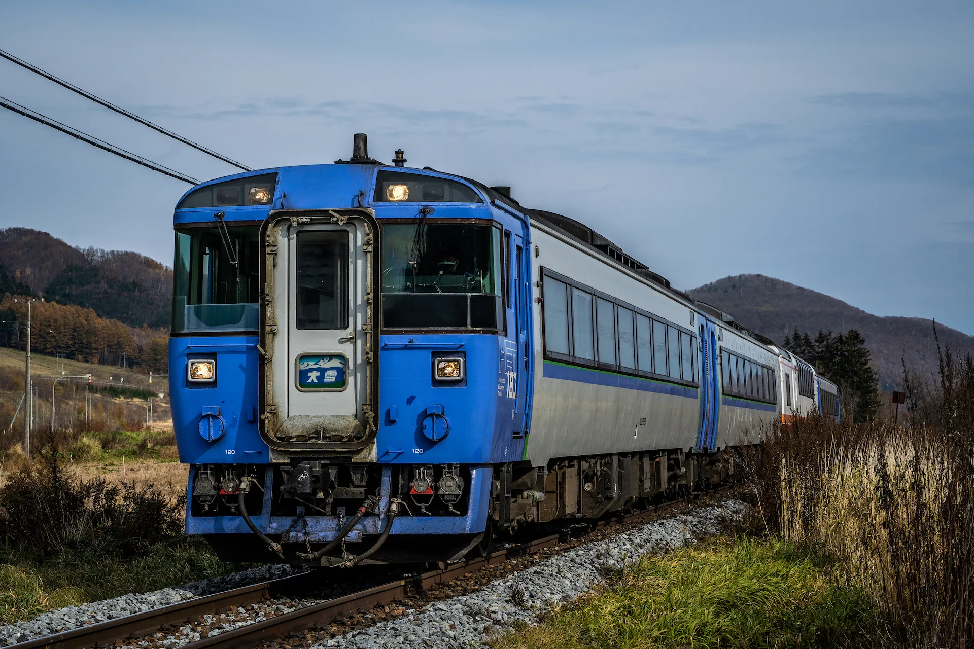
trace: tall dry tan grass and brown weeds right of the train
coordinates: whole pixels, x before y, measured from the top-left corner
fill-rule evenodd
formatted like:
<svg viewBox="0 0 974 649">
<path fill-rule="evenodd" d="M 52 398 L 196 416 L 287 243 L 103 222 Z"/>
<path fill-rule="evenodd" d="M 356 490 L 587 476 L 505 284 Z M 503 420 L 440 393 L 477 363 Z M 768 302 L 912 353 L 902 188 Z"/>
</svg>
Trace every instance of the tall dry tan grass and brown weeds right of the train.
<svg viewBox="0 0 974 649">
<path fill-rule="evenodd" d="M 907 373 L 896 425 L 825 417 L 773 431 L 756 474 L 769 530 L 821 544 L 876 600 L 889 642 L 974 646 L 974 362 Z"/>
</svg>

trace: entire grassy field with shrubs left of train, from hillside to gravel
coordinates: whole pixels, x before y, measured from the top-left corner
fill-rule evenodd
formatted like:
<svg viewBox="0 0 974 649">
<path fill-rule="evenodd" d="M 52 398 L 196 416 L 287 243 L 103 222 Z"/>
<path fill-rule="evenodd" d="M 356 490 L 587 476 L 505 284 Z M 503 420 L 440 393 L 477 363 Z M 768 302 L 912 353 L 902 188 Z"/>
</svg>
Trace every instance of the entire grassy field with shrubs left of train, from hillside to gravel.
<svg viewBox="0 0 974 649">
<path fill-rule="evenodd" d="M 23 352 L 0 348 L 7 422 L 22 394 L 23 363 Z M 32 456 L 19 447 L 22 412 L 0 435 L 0 624 L 245 567 L 217 560 L 205 541 L 182 533 L 189 467 L 178 462 L 166 377 L 150 385 L 131 370 L 41 354 L 31 366 L 41 391 Z M 86 418 L 84 384 L 58 382 L 52 432 L 52 378 L 62 372 L 91 373 L 96 391 Z M 150 396 L 153 426 L 144 430 Z"/>
</svg>

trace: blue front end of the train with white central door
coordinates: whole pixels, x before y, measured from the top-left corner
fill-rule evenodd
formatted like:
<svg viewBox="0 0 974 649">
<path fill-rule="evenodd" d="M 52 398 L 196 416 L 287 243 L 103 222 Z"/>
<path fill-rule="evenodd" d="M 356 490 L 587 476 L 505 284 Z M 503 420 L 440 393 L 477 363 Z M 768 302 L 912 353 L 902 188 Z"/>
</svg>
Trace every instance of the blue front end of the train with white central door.
<svg viewBox="0 0 974 649">
<path fill-rule="evenodd" d="M 463 179 L 350 162 L 220 179 L 176 209 L 186 531 L 222 559 L 485 550 L 491 465 L 524 451 L 526 224 Z"/>
</svg>

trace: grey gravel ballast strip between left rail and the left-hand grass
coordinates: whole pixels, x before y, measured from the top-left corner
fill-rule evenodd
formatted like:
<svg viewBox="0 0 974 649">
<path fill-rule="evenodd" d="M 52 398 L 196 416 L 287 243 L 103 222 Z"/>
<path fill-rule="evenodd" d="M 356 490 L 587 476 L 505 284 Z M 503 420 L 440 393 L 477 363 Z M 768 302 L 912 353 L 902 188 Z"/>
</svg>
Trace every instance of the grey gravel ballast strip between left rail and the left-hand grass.
<svg viewBox="0 0 974 649">
<path fill-rule="evenodd" d="M 179 588 L 166 588 L 142 595 L 121 595 L 113 599 L 102 599 L 81 606 L 59 608 L 56 611 L 41 613 L 25 622 L 0 626 L 0 647 L 25 642 L 43 635 L 70 631 L 105 620 L 121 618 L 133 613 L 141 613 L 153 608 L 169 606 L 169 604 L 201 595 L 241 588 L 270 579 L 279 579 L 293 572 L 288 565 L 264 565 L 225 577 L 210 577 Z"/>
</svg>

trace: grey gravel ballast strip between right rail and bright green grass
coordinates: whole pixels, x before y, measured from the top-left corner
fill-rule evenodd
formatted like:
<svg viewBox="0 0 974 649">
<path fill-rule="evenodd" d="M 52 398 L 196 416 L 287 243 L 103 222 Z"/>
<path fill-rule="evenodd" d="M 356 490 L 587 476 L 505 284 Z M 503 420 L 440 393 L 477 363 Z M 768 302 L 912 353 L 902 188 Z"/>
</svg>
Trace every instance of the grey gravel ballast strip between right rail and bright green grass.
<svg viewBox="0 0 974 649">
<path fill-rule="evenodd" d="M 609 571 L 642 555 L 667 552 L 726 531 L 726 523 L 739 521 L 746 507 L 728 499 L 647 523 L 559 553 L 476 593 L 432 603 L 399 619 L 339 635 L 315 647 L 482 647 L 485 638 L 510 630 L 515 622 L 537 623 L 551 606 L 573 601 L 602 582 Z"/>
</svg>

